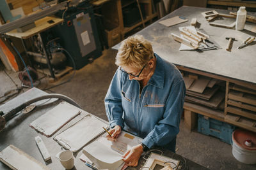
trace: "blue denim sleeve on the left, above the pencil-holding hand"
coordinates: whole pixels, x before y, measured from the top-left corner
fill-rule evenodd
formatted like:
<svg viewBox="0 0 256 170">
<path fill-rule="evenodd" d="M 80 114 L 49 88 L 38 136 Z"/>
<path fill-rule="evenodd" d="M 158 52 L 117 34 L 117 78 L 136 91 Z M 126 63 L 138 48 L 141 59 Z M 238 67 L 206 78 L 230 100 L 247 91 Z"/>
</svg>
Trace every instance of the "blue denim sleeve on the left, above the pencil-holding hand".
<svg viewBox="0 0 256 170">
<path fill-rule="evenodd" d="M 109 120 L 109 126 L 115 127 L 115 125 L 120 125 L 124 128 L 123 108 L 122 108 L 122 82 L 121 73 L 119 69 L 116 70 L 115 75 L 109 85 L 107 95 L 105 97 L 105 108 L 106 114 Z"/>
</svg>

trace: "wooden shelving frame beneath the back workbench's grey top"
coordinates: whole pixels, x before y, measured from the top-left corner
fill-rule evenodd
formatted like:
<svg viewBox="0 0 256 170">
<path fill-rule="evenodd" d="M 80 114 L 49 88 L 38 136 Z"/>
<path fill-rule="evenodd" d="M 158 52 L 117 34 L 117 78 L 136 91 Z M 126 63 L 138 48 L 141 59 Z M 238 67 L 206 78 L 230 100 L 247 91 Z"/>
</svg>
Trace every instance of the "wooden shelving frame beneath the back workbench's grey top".
<svg viewBox="0 0 256 170">
<path fill-rule="evenodd" d="M 177 66 L 181 72 L 193 74 L 194 76 L 205 76 L 214 78 L 225 83 L 224 108 L 211 108 L 202 103 L 186 101 L 184 103 L 184 119 L 189 130 L 195 129 L 197 114 L 214 118 L 221 122 L 242 127 L 256 132 L 256 85 L 244 81 L 234 80 L 210 73 L 204 73 L 193 69 Z M 223 90 L 223 89 L 222 89 Z M 187 89 L 187 94 L 189 90 Z"/>
</svg>

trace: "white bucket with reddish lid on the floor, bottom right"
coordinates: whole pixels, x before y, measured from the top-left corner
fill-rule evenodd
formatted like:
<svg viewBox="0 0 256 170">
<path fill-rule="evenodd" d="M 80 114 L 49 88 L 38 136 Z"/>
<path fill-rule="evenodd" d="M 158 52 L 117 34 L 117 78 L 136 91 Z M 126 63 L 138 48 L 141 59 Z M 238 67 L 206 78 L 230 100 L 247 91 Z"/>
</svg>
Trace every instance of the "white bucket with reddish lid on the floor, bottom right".
<svg viewBox="0 0 256 170">
<path fill-rule="evenodd" d="M 244 164 L 256 164 L 256 133 L 237 129 L 232 134 L 232 154 Z"/>
</svg>

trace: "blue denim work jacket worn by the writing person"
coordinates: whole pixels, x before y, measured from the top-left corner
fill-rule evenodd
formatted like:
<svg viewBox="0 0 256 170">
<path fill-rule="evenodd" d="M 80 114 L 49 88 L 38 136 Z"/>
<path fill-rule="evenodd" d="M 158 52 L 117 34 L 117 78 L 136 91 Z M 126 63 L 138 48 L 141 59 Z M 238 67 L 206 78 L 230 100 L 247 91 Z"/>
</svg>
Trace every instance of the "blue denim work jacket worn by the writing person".
<svg viewBox="0 0 256 170">
<path fill-rule="evenodd" d="M 110 127 L 120 125 L 125 131 L 143 139 L 152 146 L 172 148 L 179 133 L 180 116 L 186 88 L 179 70 L 156 53 L 156 69 L 143 87 L 129 80 L 129 76 L 116 70 L 105 98 Z"/>
</svg>

